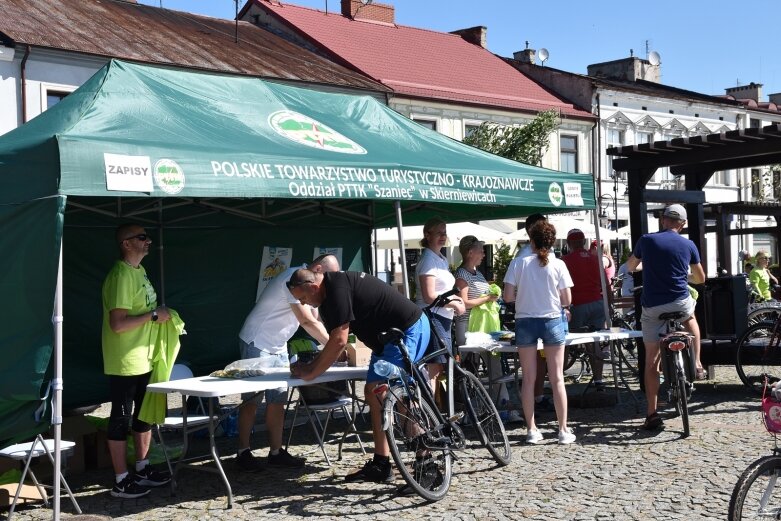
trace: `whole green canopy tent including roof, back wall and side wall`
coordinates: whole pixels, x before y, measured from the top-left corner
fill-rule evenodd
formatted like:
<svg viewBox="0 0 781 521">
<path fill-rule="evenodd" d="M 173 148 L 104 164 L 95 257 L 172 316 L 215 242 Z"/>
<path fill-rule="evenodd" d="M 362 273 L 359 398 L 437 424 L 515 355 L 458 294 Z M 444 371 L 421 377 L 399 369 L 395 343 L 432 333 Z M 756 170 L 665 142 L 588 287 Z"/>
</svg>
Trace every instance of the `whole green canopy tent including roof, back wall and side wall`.
<svg viewBox="0 0 781 521">
<path fill-rule="evenodd" d="M 484 153 L 371 96 L 111 61 L 0 137 L 0 443 L 41 428 L 33 410 L 52 373 L 61 388 L 63 347 L 65 405 L 105 401 L 100 285 L 121 222 L 146 226 L 153 247 L 165 234 L 165 263 L 158 250 L 145 266 L 187 322 L 180 358 L 203 372 L 237 356 L 264 245 L 292 247 L 294 263 L 337 246 L 345 269 L 364 269 L 371 229 L 401 215 L 595 206 L 589 175 Z"/>
</svg>

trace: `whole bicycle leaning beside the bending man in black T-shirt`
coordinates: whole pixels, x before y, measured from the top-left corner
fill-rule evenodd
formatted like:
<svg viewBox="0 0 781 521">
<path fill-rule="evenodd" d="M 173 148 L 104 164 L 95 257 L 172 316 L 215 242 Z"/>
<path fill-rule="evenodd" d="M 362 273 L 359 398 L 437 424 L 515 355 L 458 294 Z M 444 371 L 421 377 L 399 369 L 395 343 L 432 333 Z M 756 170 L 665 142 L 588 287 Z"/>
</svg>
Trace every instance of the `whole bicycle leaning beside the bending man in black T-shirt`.
<svg viewBox="0 0 781 521">
<path fill-rule="evenodd" d="M 433 309 L 445 305 L 456 291 L 437 297 L 424 308 L 424 313 L 428 316 Z M 396 468 L 407 486 L 418 495 L 428 501 L 438 501 L 450 487 L 455 451 L 466 447 L 466 436 L 461 428 L 465 415 L 499 465 L 508 465 L 512 452 L 499 412 L 480 380 L 458 364 L 457 353 L 450 353 L 433 328 L 431 334 L 438 349 L 415 363 L 411 362 L 404 345 L 402 331 L 391 329 L 380 335 L 383 344 L 393 342 L 399 347 L 404 368 L 399 377 L 378 386 L 375 392 L 386 392 L 382 428 Z M 448 402 L 457 387 L 465 405 L 465 411 L 449 411 L 448 416 L 437 407 L 428 376 L 422 370 L 426 362 L 440 355 L 446 355 L 453 366 L 455 381 L 454 385 L 448 385 Z"/>
</svg>

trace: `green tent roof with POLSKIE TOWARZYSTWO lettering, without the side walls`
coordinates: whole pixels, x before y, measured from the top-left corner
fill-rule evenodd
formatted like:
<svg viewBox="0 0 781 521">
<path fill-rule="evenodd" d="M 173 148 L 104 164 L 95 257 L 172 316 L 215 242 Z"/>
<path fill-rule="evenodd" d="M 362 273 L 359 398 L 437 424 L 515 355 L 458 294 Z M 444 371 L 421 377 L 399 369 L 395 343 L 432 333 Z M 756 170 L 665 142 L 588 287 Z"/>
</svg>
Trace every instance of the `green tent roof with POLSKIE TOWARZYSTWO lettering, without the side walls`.
<svg viewBox="0 0 781 521">
<path fill-rule="evenodd" d="M 370 96 L 117 60 L 0 138 L 0 203 L 52 195 L 241 199 L 272 224 L 300 208 L 381 226 L 397 200 L 419 210 L 405 224 L 442 203 L 452 221 L 595 206 L 590 175 L 493 156 Z"/>
</svg>

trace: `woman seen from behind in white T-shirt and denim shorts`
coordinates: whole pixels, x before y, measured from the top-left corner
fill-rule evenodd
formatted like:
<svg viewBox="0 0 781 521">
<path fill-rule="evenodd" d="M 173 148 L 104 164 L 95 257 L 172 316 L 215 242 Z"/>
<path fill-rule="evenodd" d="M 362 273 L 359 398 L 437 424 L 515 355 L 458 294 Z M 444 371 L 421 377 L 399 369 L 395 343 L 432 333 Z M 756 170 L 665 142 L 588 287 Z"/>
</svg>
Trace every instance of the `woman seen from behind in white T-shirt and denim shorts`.
<svg viewBox="0 0 781 521">
<path fill-rule="evenodd" d="M 515 344 L 521 360 L 521 405 L 528 428 L 527 443 L 538 443 L 542 434 L 534 422 L 534 383 L 537 375 L 537 341 L 542 339 L 553 405 L 559 422 L 559 443 L 575 441 L 567 427 L 567 392 L 564 389 L 564 321 L 570 320 L 572 277 L 564 261 L 551 254 L 556 228 L 541 221 L 529 231 L 532 252 L 508 268 L 504 300 L 515 300 Z"/>
</svg>

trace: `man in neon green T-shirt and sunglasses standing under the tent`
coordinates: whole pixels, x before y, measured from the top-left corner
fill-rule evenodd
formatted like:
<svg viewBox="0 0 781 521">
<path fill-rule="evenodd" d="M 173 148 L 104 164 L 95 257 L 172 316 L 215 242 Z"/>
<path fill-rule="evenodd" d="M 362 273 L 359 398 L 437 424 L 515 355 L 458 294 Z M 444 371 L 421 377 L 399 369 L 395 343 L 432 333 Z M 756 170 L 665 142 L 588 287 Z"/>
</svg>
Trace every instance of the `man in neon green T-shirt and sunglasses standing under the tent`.
<svg viewBox="0 0 781 521">
<path fill-rule="evenodd" d="M 116 231 L 120 259 L 103 281 L 103 372 L 109 377 L 111 414 L 108 448 L 116 474 L 111 495 L 137 498 L 147 487 L 171 481 L 168 473 L 152 470 L 147 459 L 152 426 L 138 419 L 152 372 L 153 328 L 170 318 L 158 307 L 157 294 L 141 266 L 152 239 L 143 227 L 123 224 Z M 132 430 L 136 466 L 127 469 L 127 435 Z"/>
</svg>

